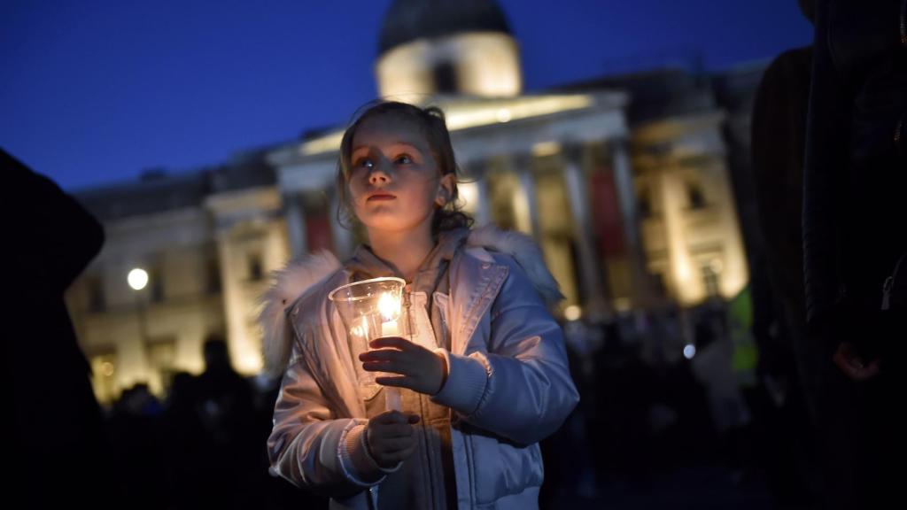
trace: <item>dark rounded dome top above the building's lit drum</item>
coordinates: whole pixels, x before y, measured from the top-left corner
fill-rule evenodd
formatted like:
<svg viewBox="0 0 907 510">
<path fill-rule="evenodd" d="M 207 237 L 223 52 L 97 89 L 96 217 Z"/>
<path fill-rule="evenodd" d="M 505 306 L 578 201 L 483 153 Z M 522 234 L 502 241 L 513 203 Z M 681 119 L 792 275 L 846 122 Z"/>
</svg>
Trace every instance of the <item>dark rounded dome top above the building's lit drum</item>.
<svg viewBox="0 0 907 510">
<path fill-rule="evenodd" d="M 493 0 L 395 0 L 381 27 L 378 54 L 417 39 L 467 32 L 511 35 L 501 7 Z"/>
</svg>

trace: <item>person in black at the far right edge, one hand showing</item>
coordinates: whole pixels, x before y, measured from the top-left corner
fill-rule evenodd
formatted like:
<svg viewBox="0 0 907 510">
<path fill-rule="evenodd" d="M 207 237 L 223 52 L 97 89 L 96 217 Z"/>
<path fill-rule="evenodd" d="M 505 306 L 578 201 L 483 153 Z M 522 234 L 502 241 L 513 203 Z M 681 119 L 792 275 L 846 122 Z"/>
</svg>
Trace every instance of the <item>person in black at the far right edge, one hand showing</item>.
<svg viewBox="0 0 907 510">
<path fill-rule="evenodd" d="M 907 255 L 905 16 L 902 0 L 817 5 L 803 239 L 830 507 L 904 506 L 903 289 L 882 306 Z"/>
</svg>

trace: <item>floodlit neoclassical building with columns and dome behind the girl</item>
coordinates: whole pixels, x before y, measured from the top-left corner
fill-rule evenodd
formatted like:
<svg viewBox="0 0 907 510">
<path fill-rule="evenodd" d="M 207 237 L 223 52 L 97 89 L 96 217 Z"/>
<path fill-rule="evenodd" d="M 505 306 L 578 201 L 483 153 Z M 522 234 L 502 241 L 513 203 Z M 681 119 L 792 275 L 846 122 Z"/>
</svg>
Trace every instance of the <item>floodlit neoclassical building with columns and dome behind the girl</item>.
<svg viewBox="0 0 907 510">
<path fill-rule="evenodd" d="M 556 314 L 607 319 L 746 286 L 727 126 L 748 113 L 718 101 L 716 76 L 663 69 L 525 93 L 495 2 L 429 4 L 390 7 L 378 95 L 444 109 L 464 208 L 539 242 L 567 297 Z M 228 340 L 240 372 L 260 370 L 254 319 L 268 273 L 313 250 L 343 258 L 362 240 L 336 222 L 345 127 L 78 194 L 107 230 L 67 297 L 102 401 L 137 382 L 162 394 L 174 372 L 200 372 L 211 336 Z M 126 275 L 140 267 L 149 285 L 132 290 Z"/>
</svg>

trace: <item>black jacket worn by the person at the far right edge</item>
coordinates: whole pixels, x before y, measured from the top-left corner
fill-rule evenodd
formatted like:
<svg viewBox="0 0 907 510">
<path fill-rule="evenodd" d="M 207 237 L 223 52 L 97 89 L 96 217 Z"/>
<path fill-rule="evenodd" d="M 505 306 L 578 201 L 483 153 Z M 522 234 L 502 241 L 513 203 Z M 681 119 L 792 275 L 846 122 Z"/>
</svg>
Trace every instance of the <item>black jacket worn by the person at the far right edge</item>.
<svg viewBox="0 0 907 510">
<path fill-rule="evenodd" d="M 817 8 L 803 209 L 806 313 L 814 334 L 861 335 L 877 323 L 883 282 L 907 251 L 907 6 L 827 0 Z"/>
</svg>

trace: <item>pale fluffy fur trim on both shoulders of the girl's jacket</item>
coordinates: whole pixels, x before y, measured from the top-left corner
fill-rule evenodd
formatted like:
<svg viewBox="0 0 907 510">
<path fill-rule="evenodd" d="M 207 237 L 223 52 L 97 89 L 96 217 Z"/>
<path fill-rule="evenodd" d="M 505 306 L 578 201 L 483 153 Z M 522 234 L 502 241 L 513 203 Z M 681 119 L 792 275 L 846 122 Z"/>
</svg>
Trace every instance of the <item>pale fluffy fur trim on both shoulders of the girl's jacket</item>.
<svg viewBox="0 0 907 510">
<path fill-rule="evenodd" d="M 511 255 L 541 298 L 549 306 L 564 299 L 557 280 L 545 265 L 539 246 L 529 236 L 512 230 L 499 230 L 485 225 L 470 232 L 467 247 L 483 247 Z M 260 298 L 263 305 L 258 316 L 261 325 L 266 369 L 279 376 L 286 368 L 292 348 L 292 325 L 287 320 L 287 309 L 307 289 L 327 280 L 341 270 L 343 264 L 327 250 L 320 250 L 293 260 L 273 274 L 274 285 Z"/>
</svg>

